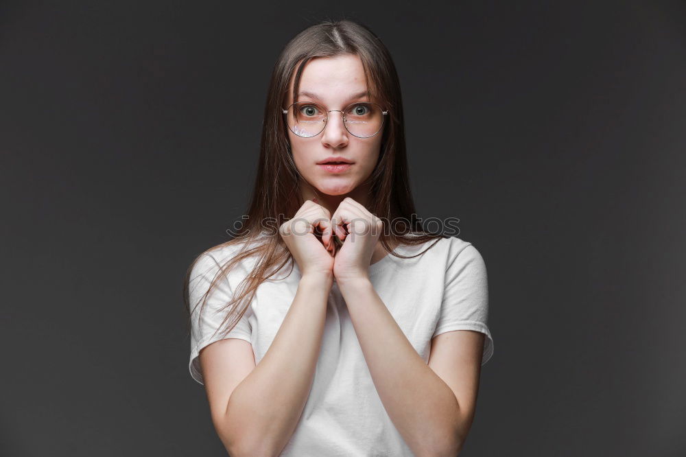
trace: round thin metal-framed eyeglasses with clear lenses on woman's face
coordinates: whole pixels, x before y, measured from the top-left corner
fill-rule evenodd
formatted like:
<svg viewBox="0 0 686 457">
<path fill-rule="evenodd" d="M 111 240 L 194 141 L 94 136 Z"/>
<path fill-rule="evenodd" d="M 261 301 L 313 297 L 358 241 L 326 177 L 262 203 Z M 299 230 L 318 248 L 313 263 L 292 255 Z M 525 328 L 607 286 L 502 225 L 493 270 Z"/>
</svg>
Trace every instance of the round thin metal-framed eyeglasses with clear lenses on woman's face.
<svg viewBox="0 0 686 457">
<path fill-rule="evenodd" d="M 314 102 L 295 102 L 287 110 L 281 110 L 286 115 L 288 128 L 298 137 L 316 137 L 327 126 L 329 113 L 338 111 L 343 117 L 343 125 L 353 137 L 370 138 L 381 131 L 383 119 L 388 111 L 372 102 L 357 102 L 348 105 L 344 110 L 327 110 Z"/>
</svg>

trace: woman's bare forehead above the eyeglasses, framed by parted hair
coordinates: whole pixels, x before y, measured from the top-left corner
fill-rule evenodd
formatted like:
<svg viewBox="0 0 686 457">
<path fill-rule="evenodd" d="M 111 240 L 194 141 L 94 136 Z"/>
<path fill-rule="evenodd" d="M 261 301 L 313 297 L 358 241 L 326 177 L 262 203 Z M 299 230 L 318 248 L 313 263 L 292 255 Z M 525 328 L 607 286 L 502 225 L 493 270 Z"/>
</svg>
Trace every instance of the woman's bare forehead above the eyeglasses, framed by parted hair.
<svg viewBox="0 0 686 457">
<path fill-rule="evenodd" d="M 289 99 L 292 99 L 294 82 L 295 74 L 289 84 Z M 300 75 L 298 93 L 306 92 L 309 95 L 300 95 L 298 99 L 318 99 L 326 104 L 338 104 L 346 102 L 353 95 L 366 92 L 367 89 L 364 66 L 359 56 L 345 54 L 320 57 L 305 65 Z"/>
</svg>

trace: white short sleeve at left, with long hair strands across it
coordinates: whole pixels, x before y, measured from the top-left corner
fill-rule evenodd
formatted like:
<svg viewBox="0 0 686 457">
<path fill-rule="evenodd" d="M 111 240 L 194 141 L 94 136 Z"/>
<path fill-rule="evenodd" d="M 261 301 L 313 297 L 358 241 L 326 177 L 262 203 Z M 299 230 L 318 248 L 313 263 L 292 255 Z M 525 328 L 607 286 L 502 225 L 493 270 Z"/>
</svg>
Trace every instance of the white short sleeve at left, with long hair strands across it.
<svg viewBox="0 0 686 457">
<path fill-rule="evenodd" d="M 191 307 L 191 358 L 189 361 L 189 371 L 191 372 L 191 377 L 203 385 L 204 380 L 202 379 L 199 358 L 202 348 L 215 341 L 227 338 L 239 338 L 251 342 L 252 328 L 248 321 L 251 313 L 250 307 L 246 309 L 244 315 L 241 316 L 241 319 L 230 332 L 225 334 L 224 327 L 217 331 L 222 326 L 222 321 L 228 312 L 228 308 L 223 310 L 221 308 L 226 306 L 233 296 L 233 287 L 226 275 L 217 280 L 217 284 L 209 296 L 207 296 L 206 302 L 204 305 L 202 304 L 204 294 L 209 290 L 209 286 L 220 268 L 221 265 L 215 257 L 205 253 L 191 268 L 189 276 L 188 296 Z M 228 323 L 230 323 L 230 320 Z"/>
</svg>

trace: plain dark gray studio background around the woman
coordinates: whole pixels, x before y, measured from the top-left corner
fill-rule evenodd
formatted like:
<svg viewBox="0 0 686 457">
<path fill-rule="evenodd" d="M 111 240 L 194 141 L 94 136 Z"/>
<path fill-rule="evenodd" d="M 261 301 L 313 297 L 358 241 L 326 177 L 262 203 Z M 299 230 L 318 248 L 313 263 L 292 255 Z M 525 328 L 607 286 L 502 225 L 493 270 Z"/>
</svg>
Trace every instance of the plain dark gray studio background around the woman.
<svg viewBox="0 0 686 457">
<path fill-rule="evenodd" d="M 279 51 L 346 17 L 396 62 L 418 212 L 488 267 L 462 455 L 686 455 L 685 3 L 248 3 L 0 3 L 0 454 L 223 454 L 182 277 L 246 207 Z"/>
</svg>

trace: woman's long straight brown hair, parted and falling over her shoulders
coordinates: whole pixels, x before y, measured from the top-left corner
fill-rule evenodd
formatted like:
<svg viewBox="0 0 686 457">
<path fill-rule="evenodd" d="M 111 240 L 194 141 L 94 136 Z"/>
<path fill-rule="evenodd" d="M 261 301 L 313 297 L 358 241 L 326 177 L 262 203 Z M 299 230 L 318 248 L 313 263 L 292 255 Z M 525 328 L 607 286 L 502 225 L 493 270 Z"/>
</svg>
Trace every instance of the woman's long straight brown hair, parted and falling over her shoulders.
<svg viewBox="0 0 686 457">
<path fill-rule="evenodd" d="M 301 176 L 290 154 L 287 126 L 281 112 L 290 80 L 295 73 L 295 95 L 307 62 L 314 58 L 343 54 L 359 56 L 368 90 L 379 100 L 383 109 L 388 110 L 389 119 L 388 124 L 383 127 L 379 161 L 369 178 L 371 195 L 367 207 L 370 213 L 383 220 L 384 229 L 379 242 L 389 255 L 409 258 L 395 253 L 392 246 L 418 245 L 431 239 L 438 242 L 440 237 L 445 237 L 440 233 L 424 231 L 421 220 L 414 217 L 414 200 L 407 173 L 400 83 L 388 49 L 368 27 L 353 21 L 323 21 L 312 25 L 289 41 L 274 64 L 264 110 L 257 178 L 247 218 L 244 216 L 246 222 L 237 230 L 233 239 L 200 253 L 186 272 L 183 294 L 185 307 L 191 314 L 189 277 L 200 257 L 225 246 L 241 245 L 237 254 L 217 271 L 209 290 L 202 296 L 203 306 L 217 281 L 228 271 L 248 257 L 257 258 L 252 272 L 241 281 L 231 301 L 222 308 L 233 311 L 226 313 L 222 323 L 223 327 L 233 315 L 233 320 L 226 326 L 226 333 L 244 315 L 259 285 L 287 263 L 292 264 L 292 256 L 278 231 L 278 227 L 288 219 L 285 215 L 292 217 L 304 203 L 300 194 Z M 293 100 L 296 100 L 295 96 Z M 316 193 L 316 189 L 313 190 Z M 265 227 L 265 221 L 270 221 L 272 226 Z M 423 252 L 417 255 L 421 254 Z M 200 301 L 195 306 L 199 304 Z M 200 311 L 202 312 L 202 307 Z"/>
</svg>

